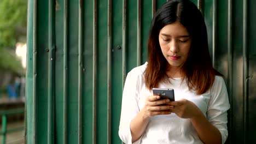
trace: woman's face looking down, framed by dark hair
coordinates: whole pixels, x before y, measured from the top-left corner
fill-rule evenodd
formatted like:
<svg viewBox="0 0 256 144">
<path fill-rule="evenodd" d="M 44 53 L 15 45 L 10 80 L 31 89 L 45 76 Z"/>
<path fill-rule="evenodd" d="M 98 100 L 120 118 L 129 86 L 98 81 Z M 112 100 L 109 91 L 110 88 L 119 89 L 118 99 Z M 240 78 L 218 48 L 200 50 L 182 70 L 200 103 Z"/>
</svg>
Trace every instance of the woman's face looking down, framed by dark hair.
<svg viewBox="0 0 256 144">
<path fill-rule="evenodd" d="M 187 28 L 176 21 L 160 30 L 159 44 L 170 67 L 179 67 L 187 60 L 191 37 Z"/>
</svg>

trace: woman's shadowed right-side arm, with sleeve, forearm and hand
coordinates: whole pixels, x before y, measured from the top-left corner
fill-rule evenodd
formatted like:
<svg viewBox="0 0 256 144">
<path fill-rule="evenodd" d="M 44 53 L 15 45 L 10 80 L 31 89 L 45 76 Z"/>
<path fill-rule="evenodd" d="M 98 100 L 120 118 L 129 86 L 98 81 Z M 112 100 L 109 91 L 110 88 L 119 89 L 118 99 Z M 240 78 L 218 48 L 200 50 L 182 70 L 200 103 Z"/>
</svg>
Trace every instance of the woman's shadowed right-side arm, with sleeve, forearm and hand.
<svg viewBox="0 0 256 144">
<path fill-rule="evenodd" d="M 172 112 L 181 118 L 190 118 L 197 134 L 204 143 L 225 143 L 228 137 L 227 111 L 230 108 L 228 93 L 222 77 L 216 76 L 211 88 L 207 117 L 191 101 L 171 101 Z"/>
</svg>

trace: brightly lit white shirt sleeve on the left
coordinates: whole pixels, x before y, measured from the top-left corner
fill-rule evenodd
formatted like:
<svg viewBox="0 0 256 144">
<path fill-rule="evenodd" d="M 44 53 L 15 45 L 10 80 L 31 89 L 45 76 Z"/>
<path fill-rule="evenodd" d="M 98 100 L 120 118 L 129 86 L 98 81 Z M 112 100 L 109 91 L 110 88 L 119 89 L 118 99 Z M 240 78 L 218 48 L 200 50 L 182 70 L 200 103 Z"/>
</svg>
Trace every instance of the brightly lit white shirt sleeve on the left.
<svg viewBox="0 0 256 144">
<path fill-rule="evenodd" d="M 139 89 L 139 75 L 133 73 L 128 73 L 124 85 L 123 99 L 121 106 L 121 117 L 119 124 L 119 137 L 126 143 L 132 143 L 130 122 L 139 112 L 138 107 L 138 89 Z M 133 142 L 139 143 L 140 139 Z"/>
</svg>

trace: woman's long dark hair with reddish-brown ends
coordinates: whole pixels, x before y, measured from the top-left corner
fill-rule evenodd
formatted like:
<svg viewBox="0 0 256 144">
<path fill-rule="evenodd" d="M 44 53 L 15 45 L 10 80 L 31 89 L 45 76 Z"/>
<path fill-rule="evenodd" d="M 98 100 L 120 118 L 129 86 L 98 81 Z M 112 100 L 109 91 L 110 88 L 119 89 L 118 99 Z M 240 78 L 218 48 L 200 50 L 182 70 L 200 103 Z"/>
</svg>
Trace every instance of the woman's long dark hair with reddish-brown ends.
<svg viewBox="0 0 256 144">
<path fill-rule="evenodd" d="M 180 22 L 187 28 L 192 40 L 187 61 L 182 65 L 183 80 L 197 94 L 205 93 L 213 84 L 215 75 L 221 75 L 213 68 L 208 49 L 205 21 L 196 5 L 188 0 L 171 0 L 156 11 L 152 20 L 148 40 L 148 66 L 144 72 L 146 87 L 158 87 L 160 81 L 168 82 L 168 62 L 159 45 L 160 30 L 173 22 Z"/>
</svg>

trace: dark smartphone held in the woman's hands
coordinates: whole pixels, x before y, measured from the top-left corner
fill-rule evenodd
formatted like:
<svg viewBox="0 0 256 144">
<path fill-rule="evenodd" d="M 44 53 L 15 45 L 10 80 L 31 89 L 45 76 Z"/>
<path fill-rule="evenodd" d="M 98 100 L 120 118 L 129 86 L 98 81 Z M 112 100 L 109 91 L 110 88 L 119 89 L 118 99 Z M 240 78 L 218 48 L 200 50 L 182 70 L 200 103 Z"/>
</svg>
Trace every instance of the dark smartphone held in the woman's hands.
<svg viewBox="0 0 256 144">
<path fill-rule="evenodd" d="M 174 89 L 172 88 L 153 88 L 153 94 L 159 95 L 161 99 L 170 99 L 174 101 Z"/>
</svg>

